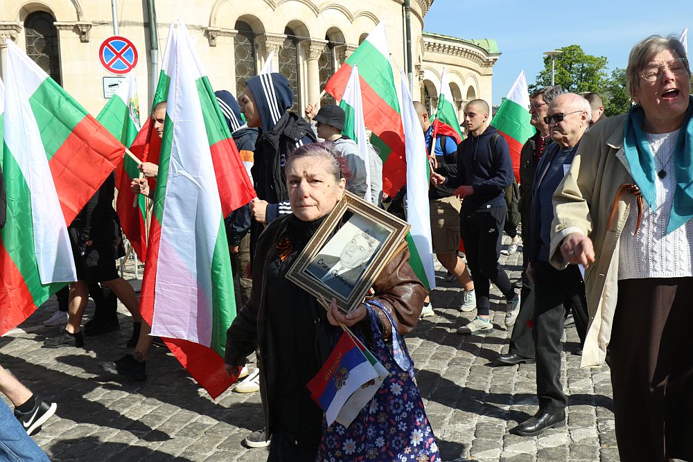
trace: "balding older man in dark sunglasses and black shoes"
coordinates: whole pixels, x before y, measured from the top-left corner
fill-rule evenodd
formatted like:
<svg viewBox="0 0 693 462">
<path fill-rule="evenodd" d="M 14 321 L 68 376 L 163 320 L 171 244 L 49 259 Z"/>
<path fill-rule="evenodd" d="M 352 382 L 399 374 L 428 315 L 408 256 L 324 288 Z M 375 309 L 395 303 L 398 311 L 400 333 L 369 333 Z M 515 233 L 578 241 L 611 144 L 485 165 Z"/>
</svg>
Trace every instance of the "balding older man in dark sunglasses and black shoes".
<svg viewBox="0 0 693 462">
<path fill-rule="evenodd" d="M 554 143 L 544 151 L 536 166 L 529 211 L 529 233 L 525 251 L 529 257 L 527 276 L 534 282 L 532 337 L 536 350 L 536 394 L 539 410 L 511 430 L 521 436 L 535 436 L 547 428 L 565 425 L 568 398 L 561 386 L 561 335 L 563 320 L 572 308 L 581 343 L 587 330 L 585 286 L 577 265 L 556 269 L 549 263 L 552 197 L 568 172 L 577 145 L 585 134 L 592 109 L 577 94 L 563 94 L 549 105 L 544 122 Z"/>
</svg>

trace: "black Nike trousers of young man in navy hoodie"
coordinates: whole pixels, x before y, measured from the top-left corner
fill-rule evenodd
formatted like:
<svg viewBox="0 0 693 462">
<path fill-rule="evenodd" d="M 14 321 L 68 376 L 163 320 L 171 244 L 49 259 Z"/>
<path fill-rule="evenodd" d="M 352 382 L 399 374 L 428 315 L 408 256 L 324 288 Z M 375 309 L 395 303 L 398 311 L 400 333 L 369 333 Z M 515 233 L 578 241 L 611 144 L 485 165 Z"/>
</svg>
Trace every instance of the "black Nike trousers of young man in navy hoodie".
<svg viewBox="0 0 693 462">
<path fill-rule="evenodd" d="M 463 210 L 459 215 L 459 231 L 474 281 L 479 314 L 488 314 L 491 308 L 491 283 L 498 287 L 506 299 L 515 296 L 508 275 L 498 263 L 504 224 L 505 206 L 466 212 L 463 204 Z"/>
</svg>

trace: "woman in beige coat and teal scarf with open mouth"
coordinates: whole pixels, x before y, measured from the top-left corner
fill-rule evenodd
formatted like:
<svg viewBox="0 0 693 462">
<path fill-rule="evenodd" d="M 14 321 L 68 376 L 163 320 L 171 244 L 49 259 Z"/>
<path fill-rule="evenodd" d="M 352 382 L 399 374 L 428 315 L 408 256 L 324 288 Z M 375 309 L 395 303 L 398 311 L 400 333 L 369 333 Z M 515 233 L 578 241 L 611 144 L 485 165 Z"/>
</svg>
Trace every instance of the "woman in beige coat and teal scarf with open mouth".
<svg viewBox="0 0 693 462">
<path fill-rule="evenodd" d="M 554 194 L 552 263 L 586 266 L 582 365 L 610 350 L 622 461 L 693 460 L 693 104 L 676 37 L 633 47 L 635 102 L 582 139 Z"/>
</svg>

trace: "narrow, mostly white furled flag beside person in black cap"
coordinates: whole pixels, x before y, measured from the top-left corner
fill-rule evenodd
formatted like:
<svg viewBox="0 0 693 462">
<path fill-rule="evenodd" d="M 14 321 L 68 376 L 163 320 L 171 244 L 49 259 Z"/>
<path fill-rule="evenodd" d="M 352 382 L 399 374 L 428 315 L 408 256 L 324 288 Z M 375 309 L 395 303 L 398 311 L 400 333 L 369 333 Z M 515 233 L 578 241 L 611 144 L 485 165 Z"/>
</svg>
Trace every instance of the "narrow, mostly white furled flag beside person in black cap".
<svg viewBox="0 0 693 462">
<path fill-rule="evenodd" d="M 344 114 L 346 114 L 342 133 L 356 141 L 358 153 L 366 163 L 366 195 L 364 199 L 366 202 L 371 202 L 371 169 L 368 161 L 366 125 L 363 121 L 363 103 L 361 99 L 361 85 L 358 78 L 358 65 L 353 66 L 351 70 L 347 89 L 344 90 L 340 107 L 344 109 Z"/>
</svg>

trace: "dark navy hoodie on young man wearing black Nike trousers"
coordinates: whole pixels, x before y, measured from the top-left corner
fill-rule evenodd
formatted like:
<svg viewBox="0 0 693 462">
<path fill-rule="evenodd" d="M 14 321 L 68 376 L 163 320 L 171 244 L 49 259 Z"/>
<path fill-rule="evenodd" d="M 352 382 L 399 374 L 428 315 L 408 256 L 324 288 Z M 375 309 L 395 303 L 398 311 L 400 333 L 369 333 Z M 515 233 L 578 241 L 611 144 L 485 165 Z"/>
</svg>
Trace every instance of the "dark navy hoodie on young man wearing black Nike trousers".
<svg viewBox="0 0 693 462">
<path fill-rule="evenodd" d="M 474 193 L 462 201 L 462 211 L 505 205 L 505 188 L 513 182 L 513 163 L 508 143 L 503 136 L 495 142 L 495 155 L 491 152 L 491 138 L 498 134 L 489 125 L 479 136 L 470 135 L 457 148 L 457 176 L 448 177 L 446 186 L 473 186 Z"/>
</svg>

